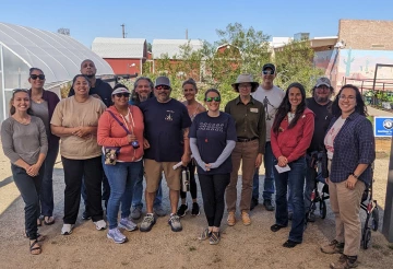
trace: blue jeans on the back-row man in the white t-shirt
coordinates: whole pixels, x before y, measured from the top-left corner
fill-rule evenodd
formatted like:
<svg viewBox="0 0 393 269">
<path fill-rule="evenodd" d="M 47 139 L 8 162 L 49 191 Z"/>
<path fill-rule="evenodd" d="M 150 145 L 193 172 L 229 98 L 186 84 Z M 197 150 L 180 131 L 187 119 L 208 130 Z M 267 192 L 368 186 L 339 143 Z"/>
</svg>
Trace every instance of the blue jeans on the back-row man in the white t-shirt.
<svg viewBox="0 0 393 269">
<path fill-rule="evenodd" d="M 273 152 L 271 142 L 266 142 L 265 154 L 263 156 L 265 167 L 265 178 L 263 184 L 263 200 L 272 200 L 274 194 L 274 173 L 273 173 Z M 255 169 L 252 184 L 252 199 L 259 199 L 259 169 Z"/>
</svg>

